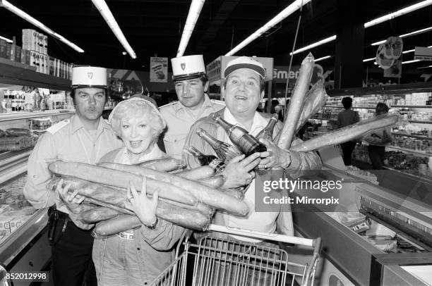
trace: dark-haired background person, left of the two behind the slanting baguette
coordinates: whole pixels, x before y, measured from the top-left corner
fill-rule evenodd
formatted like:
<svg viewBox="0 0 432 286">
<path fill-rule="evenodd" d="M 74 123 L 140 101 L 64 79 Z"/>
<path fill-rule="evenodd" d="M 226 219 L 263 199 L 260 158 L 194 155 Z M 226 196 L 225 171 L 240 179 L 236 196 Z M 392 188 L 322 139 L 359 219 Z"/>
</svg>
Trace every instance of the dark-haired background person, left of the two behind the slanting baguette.
<svg viewBox="0 0 432 286">
<path fill-rule="evenodd" d="M 360 121 L 359 113 L 357 111 L 352 110 L 351 97 L 344 97 L 342 99 L 342 105 L 344 106 L 345 110 L 337 114 L 337 122 L 336 122 L 337 128 L 343 128 L 345 126 L 352 125 Z M 354 151 L 354 148 L 356 147 L 356 142 L 355 141 L 344 142 L 340 144 L 340 147 L 342 148 L 342 153 L 344 154 L 345 166 L 351 166 L 352 151 Z"/>
</svg>

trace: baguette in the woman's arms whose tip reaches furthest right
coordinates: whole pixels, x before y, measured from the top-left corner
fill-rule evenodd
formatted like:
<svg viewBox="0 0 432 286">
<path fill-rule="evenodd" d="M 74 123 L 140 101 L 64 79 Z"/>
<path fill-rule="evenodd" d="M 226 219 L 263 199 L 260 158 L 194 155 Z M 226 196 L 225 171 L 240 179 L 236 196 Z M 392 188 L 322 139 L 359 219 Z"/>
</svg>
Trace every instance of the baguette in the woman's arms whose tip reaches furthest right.
<svg viewBox="0 0 432 286">
<path fill-rule="evenodd" d="M 143 175 L 149 179 L 166 182 L 176 185 L 181 189 L 187 189 L 198 201 L 208 204 L 215 209 L 223 209 L 229 213 L 237 216 L 246 216 L 248 213 L 248 206 L 243 202 L 235 199 L 234 197 L 224 194 L 218 189 L 213 189 L 199 182 L 181 178 L 177 175 L 159 172 L 138 166 L 124 165 L 119 163 L 101 163 L 101 166 L 112 168 L 114 170 L 121 170 L 136 175 Z"/>
</svg>

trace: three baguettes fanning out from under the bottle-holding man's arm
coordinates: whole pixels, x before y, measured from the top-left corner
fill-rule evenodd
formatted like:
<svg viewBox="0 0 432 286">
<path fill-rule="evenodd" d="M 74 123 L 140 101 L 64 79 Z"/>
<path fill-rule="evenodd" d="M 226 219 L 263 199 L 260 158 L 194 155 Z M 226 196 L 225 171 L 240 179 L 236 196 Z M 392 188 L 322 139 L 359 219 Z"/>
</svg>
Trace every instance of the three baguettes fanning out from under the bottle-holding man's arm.
<svg viewBox="0 0 432 286">
<path fill-rule="evenodd" d="M 400 116 L 397 114 L 385 114 L 368 120 L 362 120 L 359 123 L 334 130 L 292 146 L 292 141 L 296 132 L 324 106 L 328 98 L 321 80 L 318 80 L 318 82 L 309 89 L 313 66 L 314 59 L 312 54 L 309 53 L 301 63 L 299 77 L 294 86 L 291 100 L 289 101 L 284 126 L 275 139 L 275 143 L 281 149 L 305 152 L 316 151 L 323 147 L 351 141 L 373 130 L 395 125 L 399 120 Z"/>
</svg>

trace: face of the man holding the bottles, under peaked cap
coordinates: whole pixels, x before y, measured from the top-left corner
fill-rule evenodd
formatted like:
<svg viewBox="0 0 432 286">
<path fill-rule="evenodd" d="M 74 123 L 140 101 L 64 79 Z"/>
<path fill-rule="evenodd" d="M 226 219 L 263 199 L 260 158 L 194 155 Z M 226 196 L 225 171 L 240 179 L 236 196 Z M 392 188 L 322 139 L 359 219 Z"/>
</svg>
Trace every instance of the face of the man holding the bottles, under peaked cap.
<svg viewBox="0 0 432 286">
<path fill-rule="evenodd" d="M 260 76 L 248 68 L 240 68 L 229 74 L 222 92 L 233 116 L 251 118 L 264 95 L 264 91 L 260 91 Z"/>
</svg>

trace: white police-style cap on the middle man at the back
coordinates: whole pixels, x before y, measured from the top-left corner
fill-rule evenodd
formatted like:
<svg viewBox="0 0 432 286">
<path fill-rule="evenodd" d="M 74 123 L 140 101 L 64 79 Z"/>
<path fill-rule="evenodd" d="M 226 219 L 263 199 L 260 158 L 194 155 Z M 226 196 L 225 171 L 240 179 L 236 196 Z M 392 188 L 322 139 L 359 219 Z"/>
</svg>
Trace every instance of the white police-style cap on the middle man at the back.
<svg viewBox="0 0 432 286">
<path fill-rule="evenodd" d="M 172 80 L 191 80 L 205 74 L 203 55 L 179 56 L 171 59 Z"/>
</svg>

